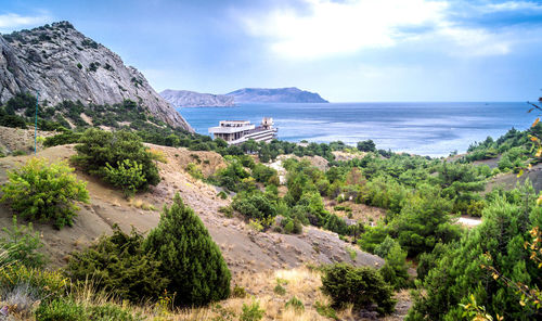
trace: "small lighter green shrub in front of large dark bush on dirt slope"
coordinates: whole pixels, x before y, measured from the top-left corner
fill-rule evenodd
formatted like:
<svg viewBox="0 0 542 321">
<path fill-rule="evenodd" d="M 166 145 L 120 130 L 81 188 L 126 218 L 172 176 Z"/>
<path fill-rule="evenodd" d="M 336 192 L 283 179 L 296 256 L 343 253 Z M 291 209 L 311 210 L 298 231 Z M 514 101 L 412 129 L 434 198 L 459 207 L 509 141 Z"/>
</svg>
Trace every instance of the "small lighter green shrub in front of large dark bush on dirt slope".
<svg viewBox="0 0 542 321">
<path fill-rule="evenodd" d="M 143 165 L 130 159 L 117 162 L 116 167 L 106 163 L 103 168 L 103 178 L 112 185 L 120 188 L 126 197 L 133 196 L 146 182 Z"/>
</svg>

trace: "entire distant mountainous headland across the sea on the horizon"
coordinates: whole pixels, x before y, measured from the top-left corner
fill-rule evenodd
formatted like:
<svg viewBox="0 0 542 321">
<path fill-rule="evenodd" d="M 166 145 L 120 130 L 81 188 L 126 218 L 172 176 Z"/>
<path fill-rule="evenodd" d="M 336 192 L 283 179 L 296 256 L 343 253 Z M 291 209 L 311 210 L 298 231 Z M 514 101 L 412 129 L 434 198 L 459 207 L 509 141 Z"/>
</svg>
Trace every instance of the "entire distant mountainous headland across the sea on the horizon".
<svg viewBox="0 0 542 321">
<path fill-rule="evenodd" d="M 160 95 L 175 107 L 230 107 L 236 103 L 327 103 L 315 92 L 291 88 L 243 88 L 227 94 L 166 89 Z"/>
</svg>

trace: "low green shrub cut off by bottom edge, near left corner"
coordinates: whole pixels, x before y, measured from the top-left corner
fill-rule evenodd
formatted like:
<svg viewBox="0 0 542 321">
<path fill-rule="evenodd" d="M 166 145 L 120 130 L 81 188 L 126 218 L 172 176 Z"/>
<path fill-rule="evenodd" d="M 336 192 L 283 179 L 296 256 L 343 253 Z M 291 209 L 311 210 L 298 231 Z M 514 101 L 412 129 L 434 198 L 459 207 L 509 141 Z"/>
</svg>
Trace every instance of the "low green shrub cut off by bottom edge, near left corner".
<svg viewBox="0 0 542 321">
<path fill-rule="evenodd" d="M 81 305 L 68 299 L 55 299 L 42 303 L 36 310 L 39 321 L 86 321 L 87 316 Z"/>
</svg>

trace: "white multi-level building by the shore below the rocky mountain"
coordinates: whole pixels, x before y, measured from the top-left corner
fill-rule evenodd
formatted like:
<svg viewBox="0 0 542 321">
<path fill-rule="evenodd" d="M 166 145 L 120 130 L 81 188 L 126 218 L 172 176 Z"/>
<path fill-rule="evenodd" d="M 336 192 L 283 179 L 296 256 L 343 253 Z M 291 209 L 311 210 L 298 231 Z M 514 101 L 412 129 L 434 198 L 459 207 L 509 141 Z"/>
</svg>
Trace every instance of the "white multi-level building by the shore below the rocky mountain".
<svg viewBox="0 0 542 321">
<path fill-rule="evenodd" d="M 276 138 L 276 131 L 273 118 L 268 117 L 264 117 L 258 127 L 248 120 L 222 120 L 219 126 L 209 128 L 214 138 L 221 138 L 229 144 L 241 144 L 249 139 L 270 142 Z"/>
</svg>

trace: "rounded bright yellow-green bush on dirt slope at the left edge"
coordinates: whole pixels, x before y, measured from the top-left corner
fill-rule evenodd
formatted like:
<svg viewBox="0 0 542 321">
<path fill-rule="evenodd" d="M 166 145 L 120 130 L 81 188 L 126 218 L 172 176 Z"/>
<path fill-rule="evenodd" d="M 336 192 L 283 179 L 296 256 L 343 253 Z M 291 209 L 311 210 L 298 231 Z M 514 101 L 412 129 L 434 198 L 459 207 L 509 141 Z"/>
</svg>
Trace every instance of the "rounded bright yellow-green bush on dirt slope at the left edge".
<svg viewBox="0 0 542 321">
<path fill-rule="evenodd" d="M 87 184 L 72 171 L 65 163 L 31 158 L 18 170 L 8 172 L 0 202 L 8 202 L 22 218 L 53 221 L 57 229 L 72 226 L 79 210 L 75 201 L 89 200 Z"/>
</svg>

